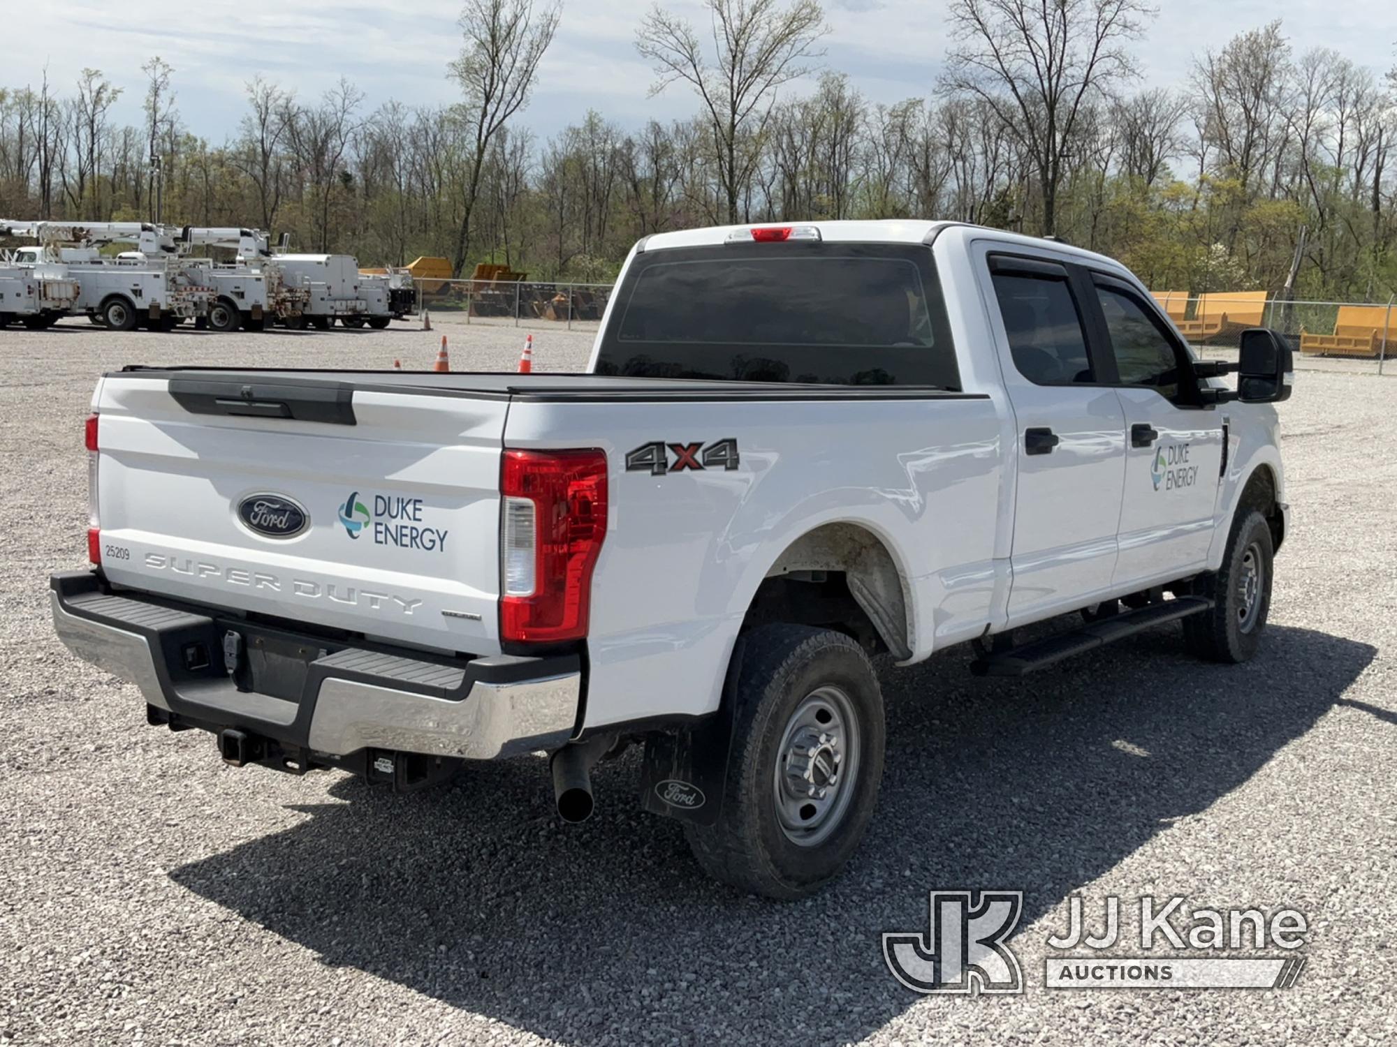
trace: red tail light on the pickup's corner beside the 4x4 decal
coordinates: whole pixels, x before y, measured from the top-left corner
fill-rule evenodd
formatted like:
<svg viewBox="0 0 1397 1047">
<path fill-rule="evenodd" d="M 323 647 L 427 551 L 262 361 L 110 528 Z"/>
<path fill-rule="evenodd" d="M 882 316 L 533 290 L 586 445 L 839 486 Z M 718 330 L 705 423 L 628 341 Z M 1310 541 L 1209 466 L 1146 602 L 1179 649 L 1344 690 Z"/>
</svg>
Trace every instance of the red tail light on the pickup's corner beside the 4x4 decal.
<svg viewBox="0 0 1397 1047">
<path fill-rule="evenodd" d="M 606 537 L 605 452 L 506 451 L 500 493 L 500 639 L 581 639 Z"/>
</svg>

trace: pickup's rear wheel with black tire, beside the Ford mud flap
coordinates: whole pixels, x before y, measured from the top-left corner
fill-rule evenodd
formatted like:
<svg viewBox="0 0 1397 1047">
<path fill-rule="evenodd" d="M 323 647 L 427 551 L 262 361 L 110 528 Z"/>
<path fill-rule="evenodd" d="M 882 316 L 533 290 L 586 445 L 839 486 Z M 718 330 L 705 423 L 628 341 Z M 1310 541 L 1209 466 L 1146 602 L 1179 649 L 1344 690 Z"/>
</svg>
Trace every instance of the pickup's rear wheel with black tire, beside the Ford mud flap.
<svg viewBox="0 0 1397 1047">
<path fill-rule="evenodd" d="M 746 637 L 729 698 L 738 705 L 722 812 L 715 825 L 685 824 L 689 847 L 708 875 L 739 891 L 778 900 L 806 898 L 844 868 L 873 817 L 884 747 L 877 676 L 868 655 L 842 632 L 763 625 Z M 821 701 L 828 702 L 824 713 L 840 706 L 833 722 L 819 719 Z M 812 708 L 802 726 L 802 711 Z M 827 743 L 835 736 L 819 725 L 837 732 L 844 748 Z M 798 744 L 802 734 L 806 745 Z M 835 754 L 841 757 L 834 759 Z M 806 778 L 792 764 L 802 755 Z M 831 769 L 842 780 L 830 779 Z M 828 792 L 807 801 L 800 793 L 805 782 Z M 791 824 L 805 818 L 810 821 Z"/>
</svg>

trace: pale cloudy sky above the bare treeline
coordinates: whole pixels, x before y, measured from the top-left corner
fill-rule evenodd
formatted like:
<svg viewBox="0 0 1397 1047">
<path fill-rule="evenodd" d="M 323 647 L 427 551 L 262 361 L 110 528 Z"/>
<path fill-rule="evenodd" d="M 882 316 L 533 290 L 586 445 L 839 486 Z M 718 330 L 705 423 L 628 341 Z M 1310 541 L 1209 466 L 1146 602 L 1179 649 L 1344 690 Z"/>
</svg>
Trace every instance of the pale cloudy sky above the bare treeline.
<svg viewBox="0 0 1397 1047">
<path fill-rule="evenodd" d="M 545 0 L 535 0 L 541 6 Z M 1296 52 L 1327 46 L 1375 73 L 1397 64 L 1391 0 L 1154 0 L 1160 14 L 1134 43 L 1141 85 L 1176 85 L 1206 47 L 1271 18 Z M 654 80 L 636 54 L 634 32 L 651 0 L 564 0 L 563 20 L 539 68 L 524 126 L 546 138 L 588 109 L 623 127 L 689 116 L 696 101 L 680 85 L 648 96 Z M 697 0 L 668 0 L 705 28 Z M 947 0 L 826 0 L 831 27 L 824 64 L 849 74 L 872 102 L 926 96 L 946 52 Z M 3 87 L 38 87 L 47 66 L 61 94 L 84 67 L 124 88 L 115 119 L 140 123 L 141 63 L 159 54 L 175 67 L 184 124 L 214 144 L 236 133 L 247 81 L 261 75 L 314 99 L 341 75 L 365 107 L 397 99 L 455 98 L 446 66 L 460 50 L 455 0 L 0 0 L 8 46 Z M 800 91 L 805 85 L 793 85 Z"/>
</svg>

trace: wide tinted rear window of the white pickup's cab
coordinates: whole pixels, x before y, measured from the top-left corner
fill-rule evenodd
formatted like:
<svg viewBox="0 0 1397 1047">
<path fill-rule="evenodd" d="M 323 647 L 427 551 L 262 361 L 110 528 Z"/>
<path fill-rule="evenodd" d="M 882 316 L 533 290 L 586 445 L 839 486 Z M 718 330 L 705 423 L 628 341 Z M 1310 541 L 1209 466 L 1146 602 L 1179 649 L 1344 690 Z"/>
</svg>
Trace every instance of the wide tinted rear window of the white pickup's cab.
<svg viewBox="0 0 1397 1047">
<path fill-rule="evenodd" d="M 958 388 L 930 250 L 724 244 L 637 255 L 597 370 Z"/>
</svg>

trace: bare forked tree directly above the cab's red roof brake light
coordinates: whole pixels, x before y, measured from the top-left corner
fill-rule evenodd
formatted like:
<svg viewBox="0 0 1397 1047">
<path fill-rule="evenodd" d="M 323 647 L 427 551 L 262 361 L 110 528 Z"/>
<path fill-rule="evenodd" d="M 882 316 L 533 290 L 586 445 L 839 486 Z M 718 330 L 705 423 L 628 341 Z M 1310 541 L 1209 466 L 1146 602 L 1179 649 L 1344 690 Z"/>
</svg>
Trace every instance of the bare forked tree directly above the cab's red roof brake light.
<svg viewBox="0 0 1397 1047">
<path fill-rule="evenodd" d="M 659 4 L 636 32 L 636 49 L 655 66 L 651 95 L 682 81 L 703 102 L 728 222 L 738 222 L 738 200 L 760 162 L 752 147 L 760 141 L 777 92 L 824 56 L 816 45 L 828 27 L 816 0 L 793 0 L 787 8 L 777 7 L 777 0 L 704 0 L 704 7 L 711 50 L 689 21 Z"/>
</svg>

